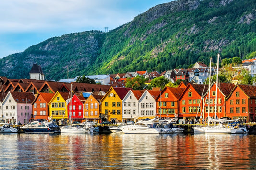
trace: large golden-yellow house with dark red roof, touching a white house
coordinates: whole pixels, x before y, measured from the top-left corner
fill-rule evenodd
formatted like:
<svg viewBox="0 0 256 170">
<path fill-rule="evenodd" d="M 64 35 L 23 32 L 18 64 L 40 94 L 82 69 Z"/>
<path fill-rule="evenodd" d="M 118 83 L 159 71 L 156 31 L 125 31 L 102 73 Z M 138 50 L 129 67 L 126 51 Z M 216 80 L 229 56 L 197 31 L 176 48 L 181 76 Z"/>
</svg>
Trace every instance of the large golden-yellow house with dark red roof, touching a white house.
<svg viewBox="0 0 256 170">
<path fill-rule="evenodd" d="M 132 88 L 111 87 L 101 99 L 101 118 L 122 122 L 122 99 Z"/>
</svg>

